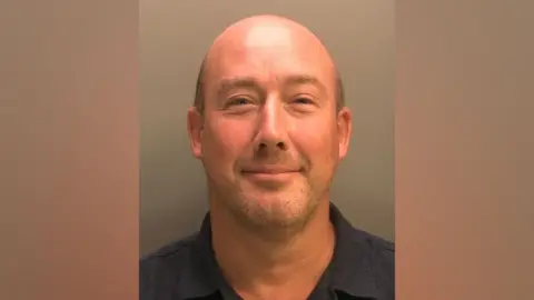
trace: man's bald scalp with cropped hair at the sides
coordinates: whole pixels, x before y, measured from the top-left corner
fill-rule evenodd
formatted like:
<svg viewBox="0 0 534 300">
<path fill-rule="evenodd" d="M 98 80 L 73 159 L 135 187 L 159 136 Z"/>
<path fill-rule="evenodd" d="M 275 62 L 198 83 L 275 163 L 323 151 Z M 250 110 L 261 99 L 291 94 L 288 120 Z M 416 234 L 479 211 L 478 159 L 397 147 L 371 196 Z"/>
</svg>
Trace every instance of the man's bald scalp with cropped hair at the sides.
<svg viewBox="0 0 534 300">
<path fill-rule="evenodd" d="M 318 64 L 332 73 L 335 86 L 336 108 L 345 106 L 344 88 L 338 71 L 320 40 L 304 26 L 279 16 L 264 14 L 241 19 L 219 34 L 205 56 L 196 83 L 195 107 L 204 114 L 206 87 L 216 64 L 227 57 L 249 56 L 250 52 L 266 52 L 284 57 L 287 48 L 308 58 L 307 63 Z M 230 54 L 231 53 L 231 54 Z M 258 64 L 258 69 L 261 66 Z"/>
</svg>

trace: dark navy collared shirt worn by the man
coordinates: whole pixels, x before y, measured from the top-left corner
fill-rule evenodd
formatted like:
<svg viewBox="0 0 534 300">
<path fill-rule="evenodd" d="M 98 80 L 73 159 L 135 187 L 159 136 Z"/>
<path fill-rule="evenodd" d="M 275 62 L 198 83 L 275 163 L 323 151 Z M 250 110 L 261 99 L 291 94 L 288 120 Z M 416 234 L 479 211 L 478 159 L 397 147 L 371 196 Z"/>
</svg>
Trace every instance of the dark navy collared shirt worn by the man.
<svg viewBox="0 0 534 300">
<path fill-rule="evenodd" d="M 395 299 L 394 244 L 354 228 L 334 204 L 330 221 L 334 257 L 308 299 Z M 139 277 L 140 300 L 241 299 L 215 260 L 209 213 L 199 232 L 142 258 Z"/>
</svg>

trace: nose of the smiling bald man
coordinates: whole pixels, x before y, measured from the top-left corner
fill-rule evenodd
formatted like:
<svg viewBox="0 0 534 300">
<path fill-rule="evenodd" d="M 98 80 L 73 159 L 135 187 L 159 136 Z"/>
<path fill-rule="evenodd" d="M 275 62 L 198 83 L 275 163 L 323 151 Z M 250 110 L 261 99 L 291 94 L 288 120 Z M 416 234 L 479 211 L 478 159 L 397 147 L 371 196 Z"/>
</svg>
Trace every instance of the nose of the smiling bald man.
<svg viewBox="0 0 534 300">
<path fill-rule="evenodd" d="M 258 117 L 256 150 L 269 153 L 287 150 L 286 116 L 279 101 L 268 99 Z"/>
</svg>

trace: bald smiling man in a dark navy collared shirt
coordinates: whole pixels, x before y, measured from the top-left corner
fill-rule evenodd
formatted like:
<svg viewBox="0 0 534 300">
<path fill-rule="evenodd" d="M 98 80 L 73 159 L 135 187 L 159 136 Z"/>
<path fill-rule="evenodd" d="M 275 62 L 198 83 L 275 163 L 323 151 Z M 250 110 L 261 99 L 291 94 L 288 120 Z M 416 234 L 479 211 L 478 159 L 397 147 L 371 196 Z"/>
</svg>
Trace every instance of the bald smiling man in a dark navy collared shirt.
<svg viewBox="0 0 534 300">
<path fill-rule="evenodd" d="M 353 228 L 329 198 L 350 118 L 306 28 L 276 16 L 227 28 L 188 111 L 209 213 L 200 232 L 141 260 L 140 298 L 394 299 L 393 244 Z"/>
</svg>

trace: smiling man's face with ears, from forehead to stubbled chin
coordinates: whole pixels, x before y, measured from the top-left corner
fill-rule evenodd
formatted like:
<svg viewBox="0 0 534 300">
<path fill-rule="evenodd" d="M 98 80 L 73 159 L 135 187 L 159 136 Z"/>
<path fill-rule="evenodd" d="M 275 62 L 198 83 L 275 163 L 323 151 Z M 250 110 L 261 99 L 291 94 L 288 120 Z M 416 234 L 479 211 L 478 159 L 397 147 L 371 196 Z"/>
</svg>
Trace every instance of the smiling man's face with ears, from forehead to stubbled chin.
<svg viewBox="0 0 534 300">
<path fill-rule="evenodd" d="M 289 226 L 325 199 L 350 117 L 343 110 L 338 118 L 324 51 L 276 28 L 216 48 L 204 118 L 190 132 L 217 207 L 249 223 Z"/>
</svg>

